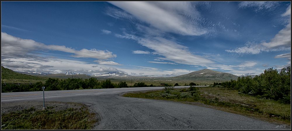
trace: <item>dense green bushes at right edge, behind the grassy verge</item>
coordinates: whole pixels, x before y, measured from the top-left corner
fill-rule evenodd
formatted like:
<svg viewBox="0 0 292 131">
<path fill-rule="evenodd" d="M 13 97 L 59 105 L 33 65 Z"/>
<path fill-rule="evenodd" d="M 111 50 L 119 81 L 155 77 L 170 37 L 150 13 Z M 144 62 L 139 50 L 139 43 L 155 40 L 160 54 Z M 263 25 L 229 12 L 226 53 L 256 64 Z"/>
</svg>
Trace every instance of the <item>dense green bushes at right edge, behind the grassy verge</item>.
<svg viewBox="0 0 292 131">
<path fill-rule="evenodd" d="M 260 75 L 239 77 L 213 86 L 236 89 L 240 93 L 256 96 L 258 98 L 272 99 L 282 103 L 291 103 L 291 67 L 281 69 L 269 68 Z"/>
</svg>

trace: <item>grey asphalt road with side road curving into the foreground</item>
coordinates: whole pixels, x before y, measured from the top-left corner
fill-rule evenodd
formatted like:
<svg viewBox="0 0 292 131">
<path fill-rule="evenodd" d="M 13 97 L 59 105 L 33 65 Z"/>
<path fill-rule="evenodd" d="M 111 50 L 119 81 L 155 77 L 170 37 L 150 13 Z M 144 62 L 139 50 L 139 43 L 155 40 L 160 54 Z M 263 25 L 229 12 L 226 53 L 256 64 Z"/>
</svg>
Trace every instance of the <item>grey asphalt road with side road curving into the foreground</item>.
<svg viewBox="0 0 292 131">
<path fill-rule="evenodd" d="M 175 88 L 181 88 L 179 86 Z M 188 86 L 186 86 L 188 87 Z M 100 117 L 95 130 L 290 130 L 277 124 L 172 101 L 128 98 L 128 91 L 162 89 L 136 87 L 45 91 L 45 101 L 84 103 Z M 1 93 L 1 103 L 43 101 L 43 92 Z"/>
</svg>

